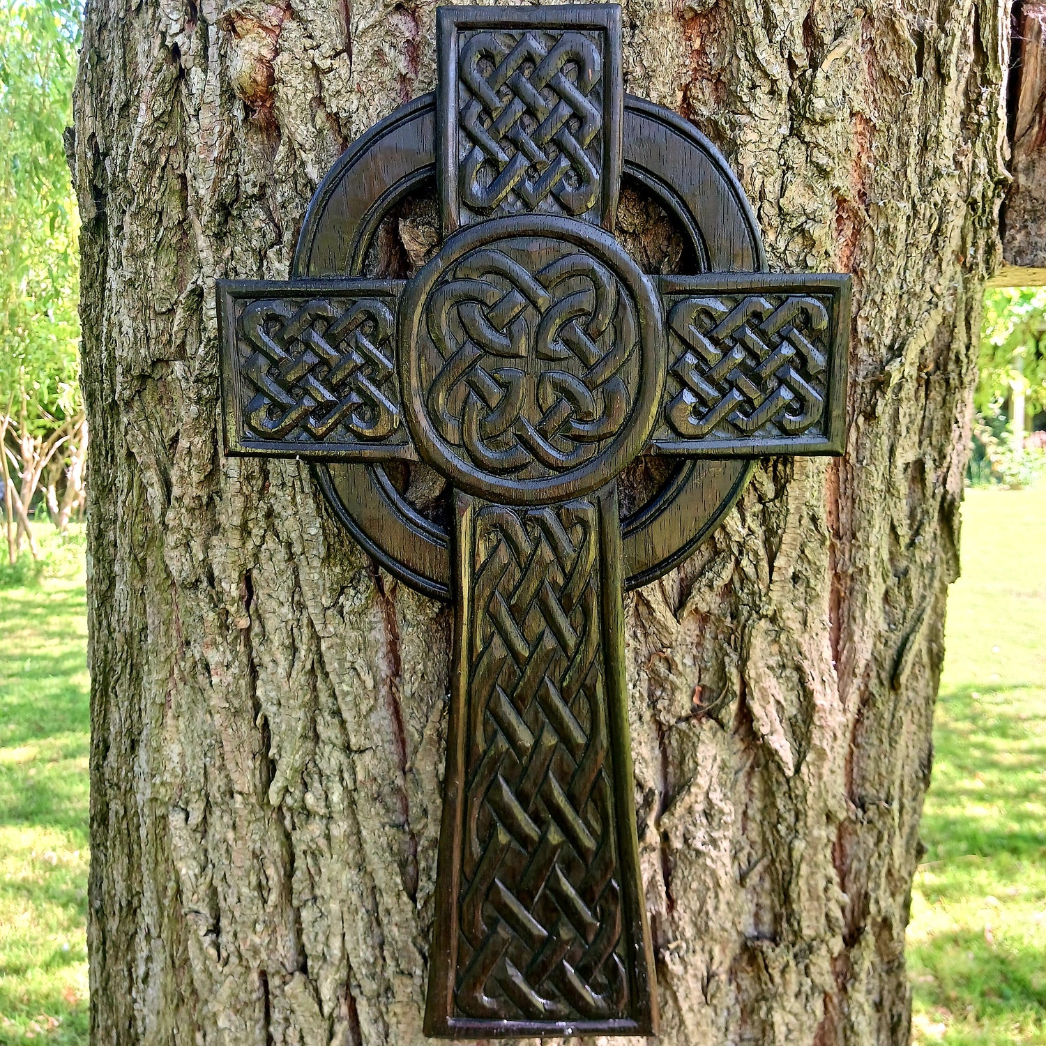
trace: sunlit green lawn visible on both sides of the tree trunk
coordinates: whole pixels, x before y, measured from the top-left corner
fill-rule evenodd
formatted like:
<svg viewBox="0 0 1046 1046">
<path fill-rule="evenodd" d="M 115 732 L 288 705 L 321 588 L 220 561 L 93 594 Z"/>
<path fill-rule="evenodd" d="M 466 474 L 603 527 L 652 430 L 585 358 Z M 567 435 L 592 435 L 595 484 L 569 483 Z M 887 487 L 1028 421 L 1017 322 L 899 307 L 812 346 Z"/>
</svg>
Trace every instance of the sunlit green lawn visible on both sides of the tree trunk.
<svg viewBox="0 0 1046 1046">
<path fill-rule="evenodd" d="M 44 529 L 41 535 L 45 535 Z M 0 566 L 0 1046 L 87 1043 L 82 544 Z M 970 491 L 908 961 L 917 1043 L 1046 1044 L 1046 490 Z"/>
</svg>

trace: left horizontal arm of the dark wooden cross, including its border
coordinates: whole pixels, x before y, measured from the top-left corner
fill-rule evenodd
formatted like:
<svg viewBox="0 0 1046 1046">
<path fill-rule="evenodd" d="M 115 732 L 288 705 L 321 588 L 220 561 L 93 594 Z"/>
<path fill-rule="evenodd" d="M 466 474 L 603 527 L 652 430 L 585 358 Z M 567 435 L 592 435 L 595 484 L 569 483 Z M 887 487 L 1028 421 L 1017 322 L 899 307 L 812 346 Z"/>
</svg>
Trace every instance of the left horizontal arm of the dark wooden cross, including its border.
<svg viewBox="0 0 1046 1046">
<path fill-rule="evenodd" d="M 225 452 L 416 460 L 395 368 L 402 280 L 219 280 Z"/>
</svg>

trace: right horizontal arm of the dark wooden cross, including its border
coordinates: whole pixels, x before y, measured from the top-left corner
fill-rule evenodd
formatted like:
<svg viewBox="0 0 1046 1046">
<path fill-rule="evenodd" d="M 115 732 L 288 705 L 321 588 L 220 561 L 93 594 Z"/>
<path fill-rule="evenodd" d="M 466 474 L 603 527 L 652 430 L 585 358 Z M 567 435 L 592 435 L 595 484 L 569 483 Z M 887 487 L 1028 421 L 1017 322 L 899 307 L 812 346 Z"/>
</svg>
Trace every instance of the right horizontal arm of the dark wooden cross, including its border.
<svg viewBox="0 0 1046 1046">
<path fill-rule="evenodd" d="M 668 367 L 653 451 L 842 454 L 849 276 L 707 273 L 659 289 Z"/>
</svg>

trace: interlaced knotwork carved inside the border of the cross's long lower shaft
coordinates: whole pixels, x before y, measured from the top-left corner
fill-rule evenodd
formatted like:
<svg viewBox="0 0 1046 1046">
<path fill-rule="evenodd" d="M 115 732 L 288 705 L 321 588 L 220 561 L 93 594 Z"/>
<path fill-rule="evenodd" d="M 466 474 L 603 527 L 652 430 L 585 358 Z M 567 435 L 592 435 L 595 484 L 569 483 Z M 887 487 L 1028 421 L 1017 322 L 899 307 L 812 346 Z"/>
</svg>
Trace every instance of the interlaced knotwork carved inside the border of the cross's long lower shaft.
<svg viewBox="0 0 1046 1046">
<path fill-rule="evenodd" d="M 624 1011 L 598 513 L 486 505 L 474 529 L 455 1004 Z"/>
</svg>

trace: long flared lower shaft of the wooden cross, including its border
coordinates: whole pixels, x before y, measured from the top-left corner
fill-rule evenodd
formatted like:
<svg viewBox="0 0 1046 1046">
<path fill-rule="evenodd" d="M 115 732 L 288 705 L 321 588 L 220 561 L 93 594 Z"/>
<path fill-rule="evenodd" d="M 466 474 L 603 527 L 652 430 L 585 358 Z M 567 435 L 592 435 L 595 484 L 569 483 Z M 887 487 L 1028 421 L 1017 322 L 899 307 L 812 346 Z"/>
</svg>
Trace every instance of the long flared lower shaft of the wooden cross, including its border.
<svg viewBox="0 0 1046 1046">
<path fill-rule="evenodd" d="M 650 1030 L 614 484 L 532 508 L 459 494 L 455 520 L 426 1029 Z"/>
</svg>

